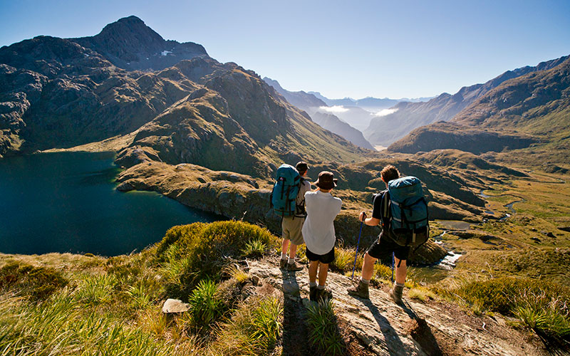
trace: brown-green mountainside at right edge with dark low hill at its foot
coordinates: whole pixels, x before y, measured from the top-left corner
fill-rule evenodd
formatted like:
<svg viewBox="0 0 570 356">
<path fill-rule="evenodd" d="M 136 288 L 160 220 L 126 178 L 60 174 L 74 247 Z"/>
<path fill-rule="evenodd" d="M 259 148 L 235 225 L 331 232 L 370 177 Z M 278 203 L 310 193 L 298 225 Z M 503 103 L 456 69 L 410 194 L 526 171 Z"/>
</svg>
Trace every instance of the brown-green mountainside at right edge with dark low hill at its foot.
<svg viewBox="0 0 570 356">
<path fill-rule="evenodd" d="M 484 86 L 487 90 L 479 86 L 477 95 L 472 95 L 476 98 L 451 122 L 419 127 L 388 150 L 456 148 L 480 153 L 536 143 L 519 155 L 527 161 L 570 162 L 569 56 L 504 73 Z"/>
</svg>

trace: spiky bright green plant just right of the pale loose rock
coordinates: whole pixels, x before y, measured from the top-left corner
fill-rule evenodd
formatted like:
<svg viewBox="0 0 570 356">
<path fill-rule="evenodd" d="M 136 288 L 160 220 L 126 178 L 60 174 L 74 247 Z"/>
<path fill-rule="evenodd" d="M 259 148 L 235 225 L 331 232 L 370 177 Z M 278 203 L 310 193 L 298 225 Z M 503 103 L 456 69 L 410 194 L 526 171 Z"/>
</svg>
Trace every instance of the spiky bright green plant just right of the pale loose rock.
<svg viewBox="0 0 570 356">
<path fill-rule="evenodd" d="M 213 281 L 200 281 L 188 298 L 192 323 L 197 328 L 207 327 L 224 315 L 224 304 L 218 298 L 216 289 Z"/>
</svg>

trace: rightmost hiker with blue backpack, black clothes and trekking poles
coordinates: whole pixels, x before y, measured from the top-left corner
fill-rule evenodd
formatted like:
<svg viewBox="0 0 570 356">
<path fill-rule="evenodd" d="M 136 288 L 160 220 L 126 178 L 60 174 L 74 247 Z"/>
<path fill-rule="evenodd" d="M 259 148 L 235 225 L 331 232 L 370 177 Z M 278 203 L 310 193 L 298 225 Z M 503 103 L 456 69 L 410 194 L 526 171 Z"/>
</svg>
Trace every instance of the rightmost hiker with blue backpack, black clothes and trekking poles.
<svg viewBox="0 0 570 356">
<path fill-rule="evenodd" d="M 362 211 L 358 219 L 368 226 L 381 225 L 382 232 L 364 255 L 358 286 L 348 288 L 348 294 L 370 298 L 368 286 L 374 263 L 385 253 L 392 253 L 395 284 L 390 289 L 390 297 L 395 303 L 401 304 L 410 248 L 418 248 L 429 237 L 427 203 L 418 178 L 400 178 L 400 172 L 393 165 L 384 167 L 380 177 L 386 185 L 386 190 L 375 194 L 372 216 L 367 218 L 366 213 Z"/>
</svg>

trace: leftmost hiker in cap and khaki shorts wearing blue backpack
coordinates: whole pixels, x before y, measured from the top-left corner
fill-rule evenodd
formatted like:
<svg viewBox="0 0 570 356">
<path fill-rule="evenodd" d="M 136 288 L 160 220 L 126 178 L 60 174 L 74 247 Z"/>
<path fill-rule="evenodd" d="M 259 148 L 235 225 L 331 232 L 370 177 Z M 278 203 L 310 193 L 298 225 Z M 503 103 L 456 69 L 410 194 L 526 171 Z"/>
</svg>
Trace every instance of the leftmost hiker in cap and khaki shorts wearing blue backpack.
<svg viewBox="0 0 570 356">
<path fill-rule="evenodd" d="M 271 193 L 271 205 L 275 213 L 282 217 L 283 243 L 279 268 L 285 268 L 287 271 L 303 269 L 303 265 L 295 261 L 295 255 L 297 246 L 304 244 L 301 229 L 306 217 L 305 193 L 311 191 L 311 183 L 305 179 L 308 170 L 309 165 L 303 161 L 298 162 L 295 167 L 281 164 L 277 169 L 276 182 Z"/>
</svg>

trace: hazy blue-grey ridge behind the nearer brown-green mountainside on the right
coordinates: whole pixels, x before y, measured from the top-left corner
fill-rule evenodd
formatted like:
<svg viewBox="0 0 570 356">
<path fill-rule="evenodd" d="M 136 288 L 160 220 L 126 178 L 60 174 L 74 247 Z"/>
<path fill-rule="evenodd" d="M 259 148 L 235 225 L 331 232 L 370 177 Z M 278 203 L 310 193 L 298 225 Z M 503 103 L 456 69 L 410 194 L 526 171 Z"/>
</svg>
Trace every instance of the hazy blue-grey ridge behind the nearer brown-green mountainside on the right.
<svg viewBox="0 0 570 356">
<path fill-rule="evenodd" d="M 528 73 L 549 70 L 564 62 L 568 57 L 539 63 L 535 67 L 523 67 L 508 70 L 502 75 L 487 81 L 484 84 L 471 85 L 461 88 L 455 95 L 443 93 L 427 103 L 398 103 L 393 109 L 397 110 L 390 115 L 373 119 L 365 130 L 365 137 L 373 145 L 388 146 L 408 135 L 416 127 L 428 125 L 437 121 L 449 121 L 461 110 L 481 98 L 489 90 L 496 88 L 506 80 L 517 78 Z"/>
</svg>

